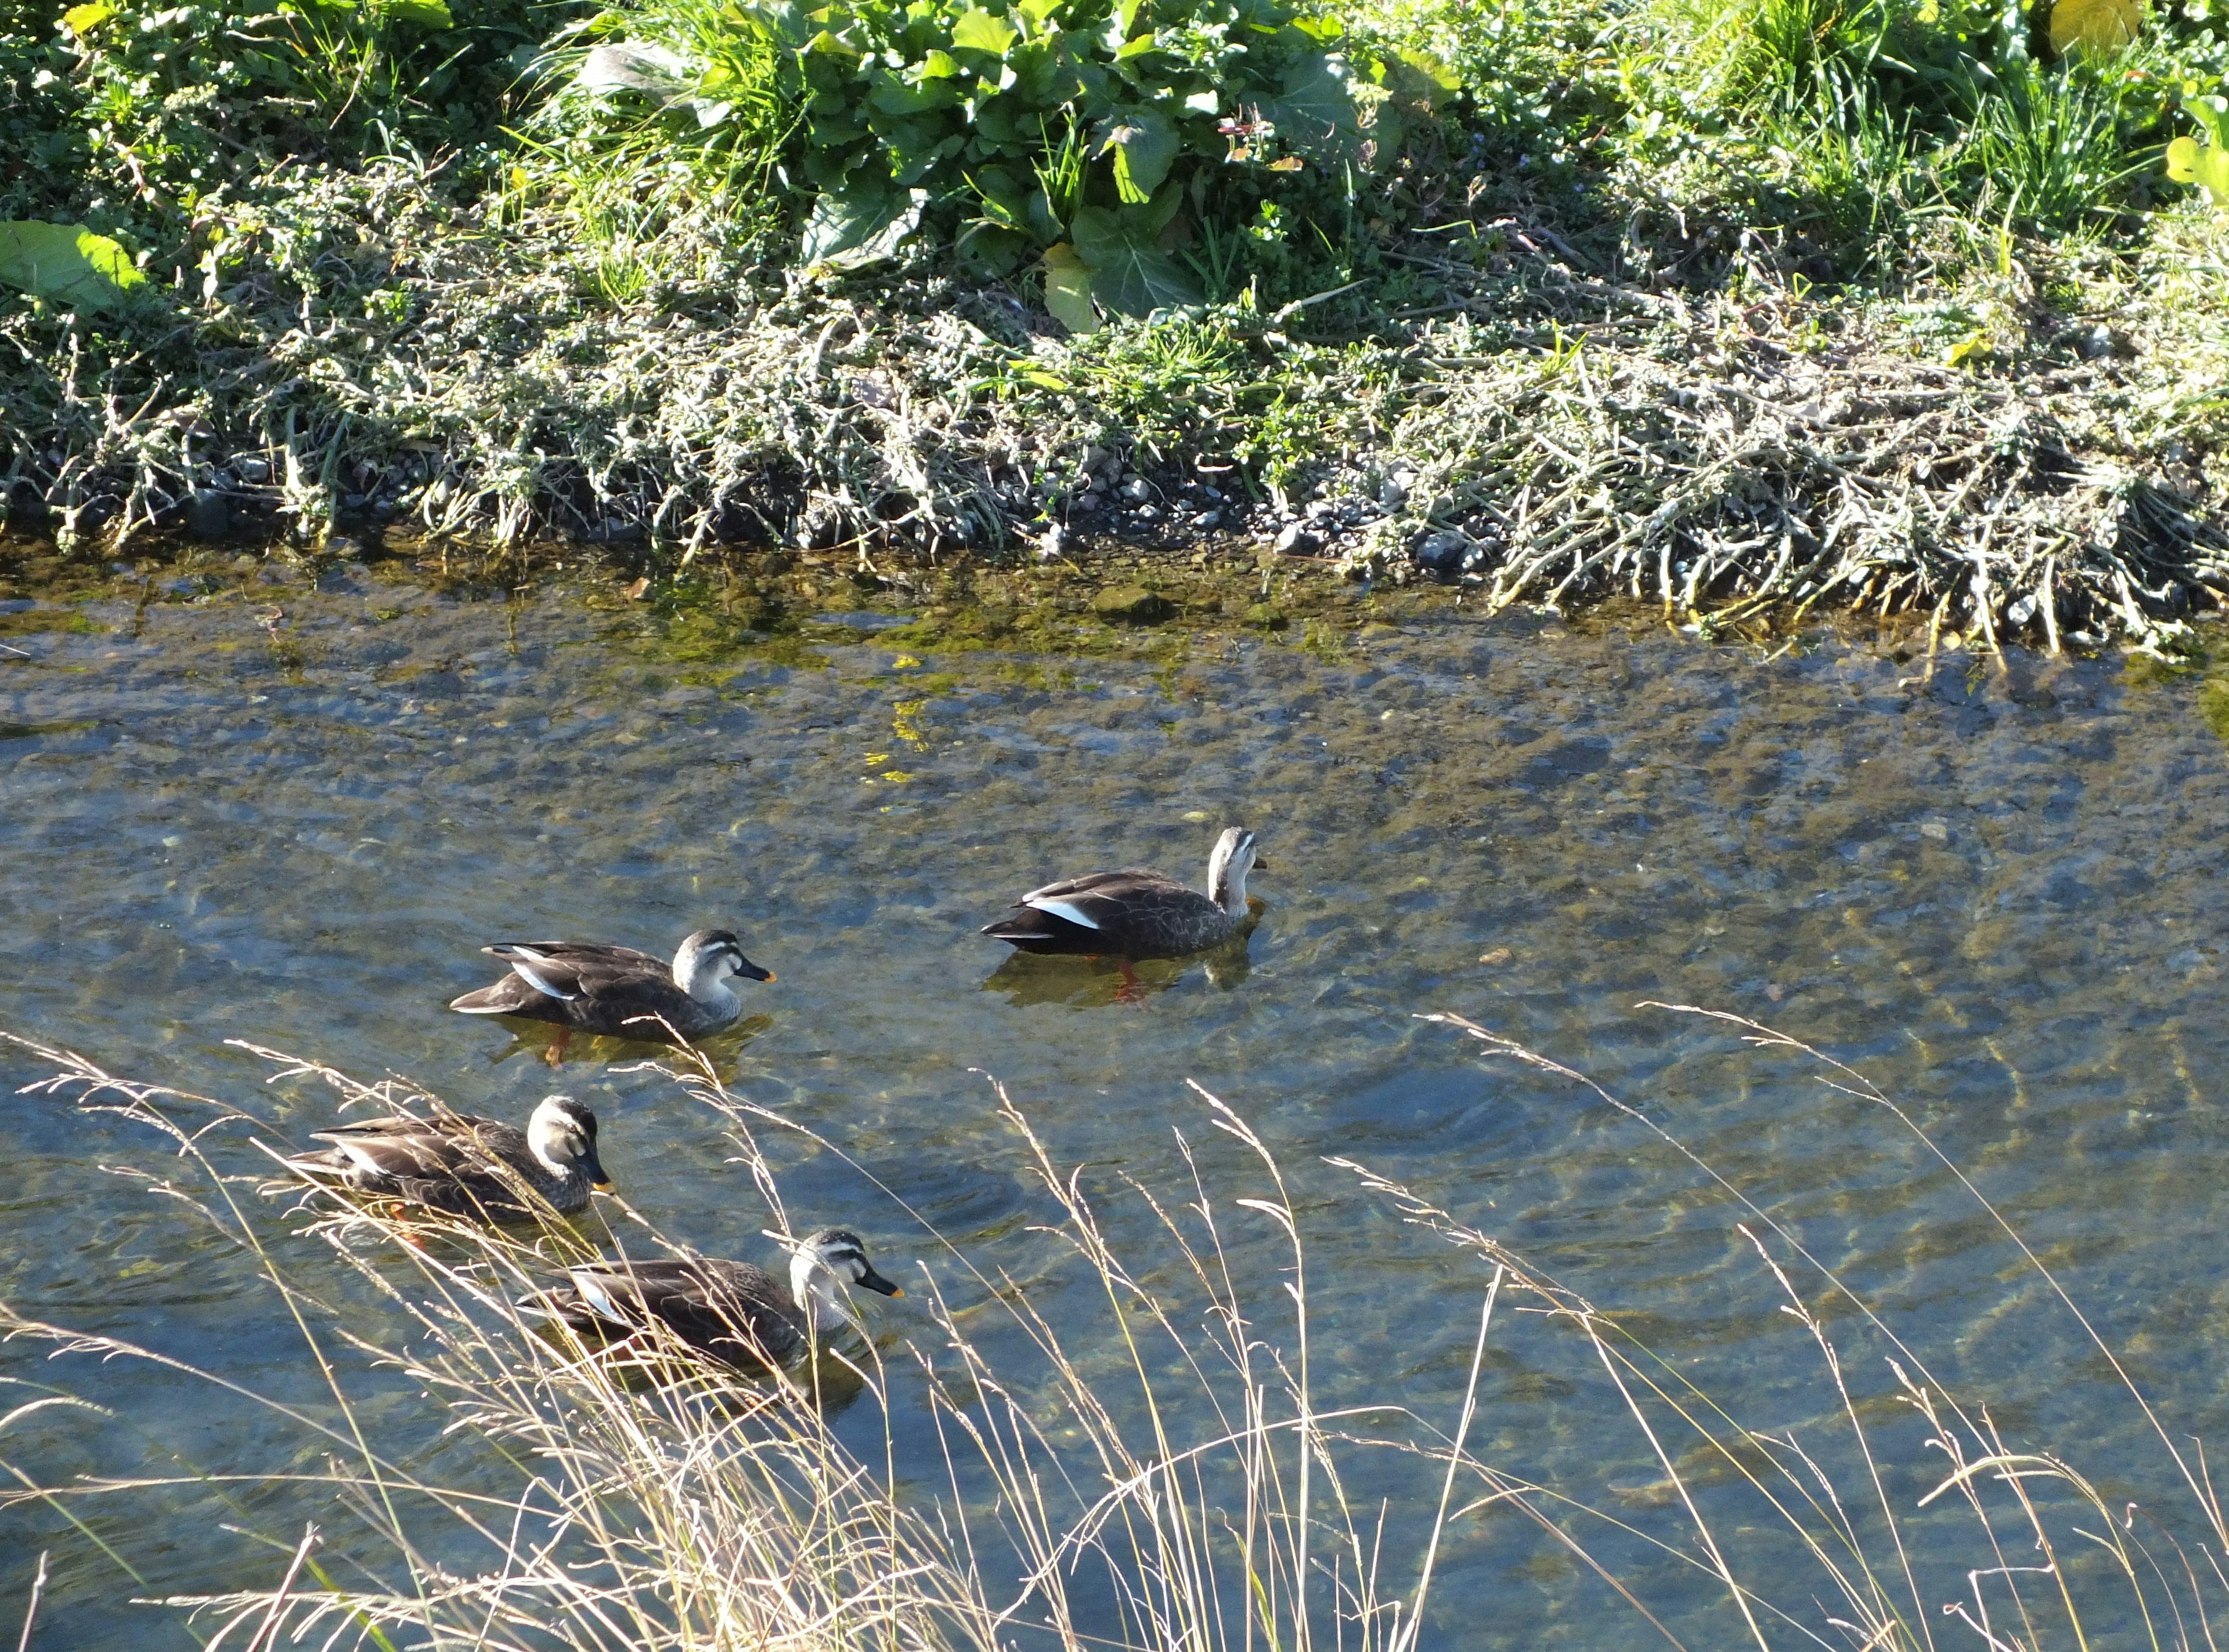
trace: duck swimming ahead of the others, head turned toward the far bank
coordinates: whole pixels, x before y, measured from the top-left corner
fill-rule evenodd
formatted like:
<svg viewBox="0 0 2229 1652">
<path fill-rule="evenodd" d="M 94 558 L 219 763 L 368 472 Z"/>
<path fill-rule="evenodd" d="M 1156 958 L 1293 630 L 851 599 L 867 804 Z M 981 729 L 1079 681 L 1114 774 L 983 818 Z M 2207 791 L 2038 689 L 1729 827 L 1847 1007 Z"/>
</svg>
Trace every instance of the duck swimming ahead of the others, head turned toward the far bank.
<svg viewBox="0 0 2229 1652">
<path fill-rule="evenodd" d="M 1239 932 L 1250 916 L 1246 874 L 1257 865 L 1253 832 L 1230 827 L 1208 858 L 1206 894 L 1143 867 L 1090 872 L 1030 890 L 1014 903 L 1019 916 L 987 923 L 983 934 L 1023 952 L 1177 959 Z"/>
</svg>

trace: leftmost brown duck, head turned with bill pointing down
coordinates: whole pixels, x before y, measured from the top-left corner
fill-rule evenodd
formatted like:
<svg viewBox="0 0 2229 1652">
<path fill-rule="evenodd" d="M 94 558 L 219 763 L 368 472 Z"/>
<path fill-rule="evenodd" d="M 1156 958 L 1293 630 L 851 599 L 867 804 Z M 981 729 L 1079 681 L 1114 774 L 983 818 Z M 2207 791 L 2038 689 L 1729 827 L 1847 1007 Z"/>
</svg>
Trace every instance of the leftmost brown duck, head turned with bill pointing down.
<svg viewBox="0 0 2229 1652">
<path fill-rule="evenodd" d="M 595 1112 L 568 1095 L 542 1097 L 524 1130 L 466 1112 L 403 1112 L 337 1124 L 310 1139 L 332 1146 L 281 1164 L 319 1186 L 481 1222 L 575 1215 L 588 1208 L 591 1191 L 611 1191 Z"/>
</svg>

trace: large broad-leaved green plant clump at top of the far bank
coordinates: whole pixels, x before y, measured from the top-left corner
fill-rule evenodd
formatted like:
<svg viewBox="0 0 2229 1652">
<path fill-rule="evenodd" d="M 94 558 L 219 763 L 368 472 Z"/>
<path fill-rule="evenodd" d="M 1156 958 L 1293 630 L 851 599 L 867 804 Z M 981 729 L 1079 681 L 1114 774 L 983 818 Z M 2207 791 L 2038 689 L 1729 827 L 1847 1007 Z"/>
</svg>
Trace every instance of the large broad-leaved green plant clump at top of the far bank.
<svg viewBox="0 0 2229 1652">
<path fill-rule="evenodd" d="M 950 236 L 990 272 L 1043 259 L 1048 303 L 1146 314 L 1204 299 L 1179 256 L 1279 185 L 1398 152 L 1447 91 L 1286 0 L 762 2 L 805 100 L 802 254 L 845 263 Z"/>
</svg>

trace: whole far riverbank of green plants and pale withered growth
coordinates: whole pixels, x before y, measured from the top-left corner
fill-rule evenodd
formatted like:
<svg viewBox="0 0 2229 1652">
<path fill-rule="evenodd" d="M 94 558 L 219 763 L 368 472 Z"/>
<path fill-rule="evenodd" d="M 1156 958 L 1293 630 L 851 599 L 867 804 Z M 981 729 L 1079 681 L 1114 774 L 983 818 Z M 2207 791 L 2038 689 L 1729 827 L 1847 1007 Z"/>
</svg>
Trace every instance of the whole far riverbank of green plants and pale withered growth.
<svg viewBox="0 0 2229 1652">
<path fill-rule="evenodd" d="M 0 508 L 2171 655 L 2225 62 L 2209 0 L 0 0 Z"/>
</svg>

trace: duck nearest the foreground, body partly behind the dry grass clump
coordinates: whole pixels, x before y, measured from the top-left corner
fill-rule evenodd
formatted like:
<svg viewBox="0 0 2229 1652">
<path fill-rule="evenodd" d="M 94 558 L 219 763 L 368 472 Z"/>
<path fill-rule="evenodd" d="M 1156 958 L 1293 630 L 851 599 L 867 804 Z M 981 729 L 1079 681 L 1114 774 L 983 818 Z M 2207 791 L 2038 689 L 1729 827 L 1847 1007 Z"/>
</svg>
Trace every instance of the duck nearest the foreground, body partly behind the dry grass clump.
<svg viewBox="0 0 2229 1652">
<path fill-rule="evenodd" d="M 651 1320 L 722 1364 L 782 1369 L 816 1338 L 854 1324 L 847 1286 L 901 1298 L 867 1262 L 851 1228 L 820 1228 L 796 1242 L 789 1284 L 751 1262 L 664 1257 L 588 1262 L 524 1306 L 595 1342 L 624 1340 Z"/>
</svg>

